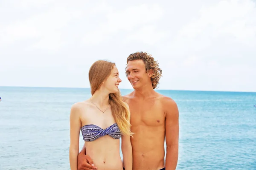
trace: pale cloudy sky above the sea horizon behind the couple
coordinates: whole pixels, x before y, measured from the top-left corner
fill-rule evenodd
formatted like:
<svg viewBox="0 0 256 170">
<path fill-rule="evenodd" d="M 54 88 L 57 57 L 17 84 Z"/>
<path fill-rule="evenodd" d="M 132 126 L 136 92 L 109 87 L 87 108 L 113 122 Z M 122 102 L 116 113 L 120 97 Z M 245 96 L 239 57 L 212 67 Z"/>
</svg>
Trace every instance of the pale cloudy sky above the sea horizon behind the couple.
<svg viewBox="0 0 256 170">
<path fill-rule="evenodd" d="M 90 88 L 98 59 L 148 52 L 160 90 L 256 92 L 255 0 L 1 0 L 0 86 Z"/>
</svg>

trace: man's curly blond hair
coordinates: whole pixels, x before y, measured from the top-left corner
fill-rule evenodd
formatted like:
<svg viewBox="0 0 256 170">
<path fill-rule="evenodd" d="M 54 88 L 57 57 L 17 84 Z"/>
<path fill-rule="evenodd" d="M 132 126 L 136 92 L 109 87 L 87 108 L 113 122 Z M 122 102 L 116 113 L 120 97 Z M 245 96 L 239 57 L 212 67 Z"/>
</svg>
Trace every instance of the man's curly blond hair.
<svg viewBox="0 0 256 170">
<path fill-rule="evenodd" d="M 153 71 L 151 82 L 152 82 L 153 89 L 157 88 L 160 77 L 162 76 L 162 69 L 159 68 L 158 62 L 155 61 L 153 57 L 151 57 L 151 54 L 148 54 L 146 52 L 136 52 L 129 55 L 129 57 L 127 58 L 127 64 L 129 61 L 133 61 L 137 59 L 143 60 L 147 73 L 150 70 Z"/>
</svg>

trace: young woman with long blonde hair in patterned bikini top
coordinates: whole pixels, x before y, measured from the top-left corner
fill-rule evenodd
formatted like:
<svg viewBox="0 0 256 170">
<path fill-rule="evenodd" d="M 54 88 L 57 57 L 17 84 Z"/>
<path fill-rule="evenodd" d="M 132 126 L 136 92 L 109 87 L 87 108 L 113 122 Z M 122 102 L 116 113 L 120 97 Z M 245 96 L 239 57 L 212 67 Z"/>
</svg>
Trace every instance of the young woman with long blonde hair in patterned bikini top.
<svg viewBox="0 0 256 170">
<path fill-rule="evenodd" d="M 70 168 L 77 170 L 79 133 L 86 154 L 98 170 L 132 170 L 130 112 L 118 89 L 115 63 L 99 60 L 89 71 L 91 98 L 75 103 L 70 111 Z M 122 139 L 123 163 L 119 152 Z"/>
</svg>

